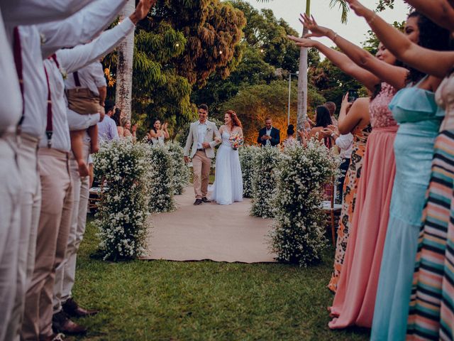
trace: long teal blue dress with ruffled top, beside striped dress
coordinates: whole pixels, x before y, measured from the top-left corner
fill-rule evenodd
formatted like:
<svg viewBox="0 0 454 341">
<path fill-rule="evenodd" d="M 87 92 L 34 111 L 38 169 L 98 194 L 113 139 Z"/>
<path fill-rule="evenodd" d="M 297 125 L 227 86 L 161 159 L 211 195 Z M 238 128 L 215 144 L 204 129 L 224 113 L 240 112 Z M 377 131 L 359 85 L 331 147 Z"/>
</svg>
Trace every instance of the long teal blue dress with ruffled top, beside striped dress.
<svg viewBox="0 0 454 341">
<path fill-rule="evenodd" d="M 425 80 L 426 77 L 423 78 Z M 396 177 L 375 300 L 370 340 L 404 340 L 411 281 L 425 193 L 431 178 L 433 144 L 441 119 L 434 92 L 419 84 L 399 90 L 389 104 L 399 123 L 394 155 Z"/>
</svg>

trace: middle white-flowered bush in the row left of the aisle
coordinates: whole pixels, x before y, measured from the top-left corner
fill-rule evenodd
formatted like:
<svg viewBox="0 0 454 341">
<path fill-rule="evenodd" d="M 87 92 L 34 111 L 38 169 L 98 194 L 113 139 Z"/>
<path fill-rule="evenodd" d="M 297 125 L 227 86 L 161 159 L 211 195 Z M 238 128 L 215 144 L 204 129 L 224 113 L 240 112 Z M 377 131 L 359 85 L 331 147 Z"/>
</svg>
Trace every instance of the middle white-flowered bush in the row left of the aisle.
<svg viewBox="0 0 454 341">
<path fill-rule="evenodd" d="M 169 148 L 162 144 L 148 145 L 150 148 L 150 211 L 170 212 L 175 209 L 174 169 L 172 155 Z"/>
</svg>

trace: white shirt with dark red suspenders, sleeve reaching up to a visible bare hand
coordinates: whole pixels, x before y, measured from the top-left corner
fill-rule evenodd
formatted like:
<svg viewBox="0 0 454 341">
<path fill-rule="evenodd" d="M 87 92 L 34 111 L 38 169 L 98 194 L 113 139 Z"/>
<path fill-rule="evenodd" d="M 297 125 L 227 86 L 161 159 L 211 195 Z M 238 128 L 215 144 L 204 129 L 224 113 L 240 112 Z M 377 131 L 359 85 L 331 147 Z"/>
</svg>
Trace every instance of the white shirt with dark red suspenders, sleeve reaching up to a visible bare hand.
<svg viewBox="0 0 454 341">
<path fill-rule="evenodd" d="M 109 53 L 118 43 L 133 31 L 134 24 L 129 18 L 109 31 L 105 31 L 92 43 L 77 45 L 75 48 L 58 50 L 57 62 L 60 69 L 52 59 L 44 61 L 48 70 L 50 94 L 52 99 L 52 148 L 60 151 L 70 151 L 70 128 L 67 122 L 67 104 L 65 99 L 65 81 L 62 72 L 71 73 L 80 68 L 99 60 L 102 55 Z M 41 135 L 40 147 L 48 146 L 47 136 Z"/>
</svg>

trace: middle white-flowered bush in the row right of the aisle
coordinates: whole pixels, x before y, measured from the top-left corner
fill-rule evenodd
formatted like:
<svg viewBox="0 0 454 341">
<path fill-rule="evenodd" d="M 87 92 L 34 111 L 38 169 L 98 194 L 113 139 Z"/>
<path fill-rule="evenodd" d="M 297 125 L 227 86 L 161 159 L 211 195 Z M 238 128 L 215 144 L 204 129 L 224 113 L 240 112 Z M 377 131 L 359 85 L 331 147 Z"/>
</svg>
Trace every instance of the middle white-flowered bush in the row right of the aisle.
<svg viewBox="0 0 454 341">
<path fill-rule="evenodd" d="M 279 148 L 266 146 L 257 149 L 253 158 L 253 200 L 250 209 L 255 217 L 274 216 L 273 206 L 276 193 L 277 169 L 282 160 Z"/>
</svg>

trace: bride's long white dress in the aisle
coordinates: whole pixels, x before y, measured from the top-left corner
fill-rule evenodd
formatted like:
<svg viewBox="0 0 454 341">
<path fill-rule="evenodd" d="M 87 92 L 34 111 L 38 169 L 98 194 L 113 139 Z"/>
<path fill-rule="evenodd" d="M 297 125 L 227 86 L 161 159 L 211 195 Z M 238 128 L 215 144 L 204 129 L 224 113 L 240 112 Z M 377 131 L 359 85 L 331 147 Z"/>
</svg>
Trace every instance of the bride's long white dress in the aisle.
<svg viewBox="0 0 454 341">
<path fill-rule="evenodd" d="M 243 176 L 241 175 L 238 150 L 234 151 L 228 142 L 230 134 L 222 132 L 222 144 L 216 154 L 216 173 L 214 175 L 211 200 L 220 205 L 243 201 Z"/>
</svg>

